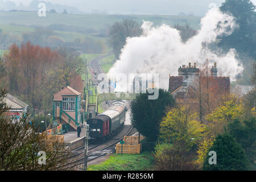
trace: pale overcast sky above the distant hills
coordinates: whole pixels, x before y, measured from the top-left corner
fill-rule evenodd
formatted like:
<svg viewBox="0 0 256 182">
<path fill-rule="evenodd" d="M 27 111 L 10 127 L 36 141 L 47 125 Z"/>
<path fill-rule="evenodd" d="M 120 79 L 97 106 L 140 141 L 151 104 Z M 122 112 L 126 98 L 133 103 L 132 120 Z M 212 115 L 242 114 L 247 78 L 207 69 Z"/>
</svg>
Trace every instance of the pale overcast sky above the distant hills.
<svg viewBox="0 0 256 182">
<path fill-rule="evenodd" d="M 9 0 L 28 5 L 32 0 Z M 44 0 L 77 7 L 81 11 L 106 11 L 109 14 L 193 14 L 204 15 L 210 3 L 220 6 L 224 0 Z M 251 0 L 256 5 L 256 0 Z"/>
</svg>

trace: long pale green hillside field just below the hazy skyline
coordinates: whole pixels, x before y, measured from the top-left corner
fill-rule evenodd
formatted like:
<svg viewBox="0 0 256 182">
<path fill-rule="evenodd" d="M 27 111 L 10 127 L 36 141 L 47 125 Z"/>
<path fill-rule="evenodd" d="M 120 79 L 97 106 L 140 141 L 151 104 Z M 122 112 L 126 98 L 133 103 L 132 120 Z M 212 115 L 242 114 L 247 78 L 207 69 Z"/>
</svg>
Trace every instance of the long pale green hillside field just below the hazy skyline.
<svg viewBox="0 0 256 182">
<path fill-rule="evenodd" d="M 74 14 L 56 14 L 47 13 L 46 17 L 39 17 L 37 12 L 0 12 L 0 24 L 15 23 L 24 26 L 40 25 L 48 26 L 49 24 L 69 24 L 72 26 L 81 26 L 100 30 L 114 22 L 123 19 L 133 19 L 138 23 L 143 20 L 151 21 L 156 26 L 160 24 L 190 23 L 193 28 L 199 28 L 199 16 L 176 16 L 176 15 L 74 15 Z"/>
</svg>

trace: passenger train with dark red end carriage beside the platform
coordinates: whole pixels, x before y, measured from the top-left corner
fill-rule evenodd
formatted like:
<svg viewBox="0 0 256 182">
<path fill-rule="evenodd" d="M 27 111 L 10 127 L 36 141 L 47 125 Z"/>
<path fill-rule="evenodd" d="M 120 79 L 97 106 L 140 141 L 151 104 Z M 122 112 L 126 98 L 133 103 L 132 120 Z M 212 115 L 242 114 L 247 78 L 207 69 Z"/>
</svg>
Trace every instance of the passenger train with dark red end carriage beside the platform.
<svg viewBox="0 0 256 182">
<path fill-rule="evenodd" d="M 125 123 L 126 105 L 123 101 L 115 101 L 108 110 L 88 119 L 89 136 L 97 141 L 111 137 Z"/>
</svg>

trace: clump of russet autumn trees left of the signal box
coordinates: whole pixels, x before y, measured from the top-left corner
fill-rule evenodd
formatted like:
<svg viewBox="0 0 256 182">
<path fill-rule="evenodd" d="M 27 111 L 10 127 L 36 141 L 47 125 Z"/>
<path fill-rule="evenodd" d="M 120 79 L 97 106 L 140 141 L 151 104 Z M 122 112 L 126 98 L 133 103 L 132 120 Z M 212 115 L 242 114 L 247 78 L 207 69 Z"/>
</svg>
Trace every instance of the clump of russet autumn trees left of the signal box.
<svg viewBox="0 0 256 182">
<path fill-rule="evenodd" d="M 22 44 L 20 48 L 11 46 L 5 55 L 9 92 L 40 109 L 43 102 L 46 104 L 46 94 L 56 91 L 48 92 L 48 77 L 55 71 L 55 64 L 59 65 L 57 53 L 48 47 L 34 46 L 30 42 Z M 48 97 L 51 98 L 51 95 Z"/>
</svg>

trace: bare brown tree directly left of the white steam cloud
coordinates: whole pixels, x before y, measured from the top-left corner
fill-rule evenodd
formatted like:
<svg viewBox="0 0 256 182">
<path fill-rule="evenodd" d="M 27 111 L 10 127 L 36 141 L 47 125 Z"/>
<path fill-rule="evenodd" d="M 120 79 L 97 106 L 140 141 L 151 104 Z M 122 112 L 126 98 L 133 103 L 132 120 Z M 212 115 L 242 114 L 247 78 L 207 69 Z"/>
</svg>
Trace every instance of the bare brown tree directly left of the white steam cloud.
<svg viewBox="0 0 256 182">
<path fill-rule="evenodd" d="M 115 22 L 110 27 L 110 43 L 112 44 L 115 57 L 118 59 L 121 49 L 125 46 L 126 38 L 142 34 L 141 26 L 134 20 L 124 19 L 122 22 Z"/>
</svg>

